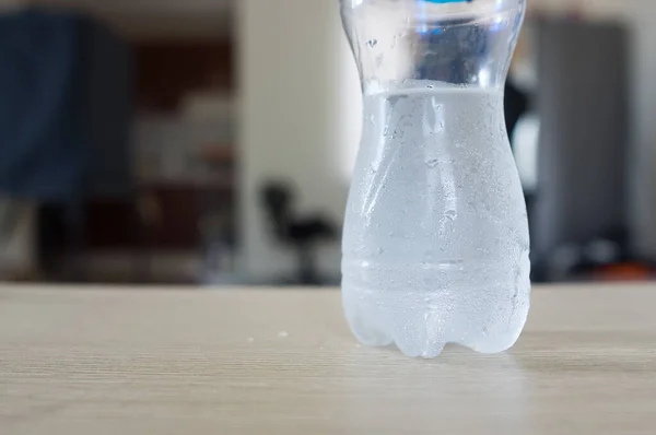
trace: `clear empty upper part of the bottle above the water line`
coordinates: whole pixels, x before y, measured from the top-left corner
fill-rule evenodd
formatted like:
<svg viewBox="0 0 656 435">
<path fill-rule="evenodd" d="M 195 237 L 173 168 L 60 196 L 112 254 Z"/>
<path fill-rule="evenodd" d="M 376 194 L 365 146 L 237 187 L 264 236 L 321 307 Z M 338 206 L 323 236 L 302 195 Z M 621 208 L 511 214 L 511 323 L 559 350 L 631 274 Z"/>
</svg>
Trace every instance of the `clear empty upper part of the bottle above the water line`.
<svg viewBox="0 0 656 435">
<path fill-rule="evenodd" d="M 503 87 L 524 19 L 523 2 L 485 15 L 430 16 L 380 4 L 342 7 L 365 92 L 409 80 Z"/>
</svg>

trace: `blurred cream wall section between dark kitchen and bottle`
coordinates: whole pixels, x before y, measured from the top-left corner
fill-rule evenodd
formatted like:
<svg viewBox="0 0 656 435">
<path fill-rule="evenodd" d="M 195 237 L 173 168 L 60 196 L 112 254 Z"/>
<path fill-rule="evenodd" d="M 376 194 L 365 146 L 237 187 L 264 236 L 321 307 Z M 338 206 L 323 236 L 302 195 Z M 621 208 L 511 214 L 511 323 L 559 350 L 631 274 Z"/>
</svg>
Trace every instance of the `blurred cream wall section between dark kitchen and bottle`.
<svg viewBox="0 0 656 435">
<path fill-rule="evenodd" d="M 243 254 L 246 272 L 267 280 L 296 263 L 268 231 L 259 189 L 291 180 L 300 213 L 321 212 L 341 226 L 348 150 L 358 143 L 353 114 L 360 124 L 359 109 L 349 108 L 360 93 L 337 0 L 241 0 L 237 8 Z M 321 247 L 319 259 L 324 273 L 337 275 L 339 242 Z"/>
</svg>

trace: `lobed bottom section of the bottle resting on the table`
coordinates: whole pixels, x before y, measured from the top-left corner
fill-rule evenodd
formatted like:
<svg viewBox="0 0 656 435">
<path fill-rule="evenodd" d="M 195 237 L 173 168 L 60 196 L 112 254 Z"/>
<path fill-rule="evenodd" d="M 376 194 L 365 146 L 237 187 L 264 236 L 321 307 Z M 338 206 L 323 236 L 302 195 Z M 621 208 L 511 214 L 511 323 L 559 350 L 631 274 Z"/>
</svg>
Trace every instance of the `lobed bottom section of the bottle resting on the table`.
<svg viewBox="0 0 656 435">
<path fill-rule="evenodd" d="M 347 320 L 367 346 L 396 346 L 410 357 L 437 357 L 446 344 L 500 353 L 518 340 L 529 290 L 382 293 L 343 285 Z M 456 296 L 457 295 L 457 296 Z"/>
</svg>

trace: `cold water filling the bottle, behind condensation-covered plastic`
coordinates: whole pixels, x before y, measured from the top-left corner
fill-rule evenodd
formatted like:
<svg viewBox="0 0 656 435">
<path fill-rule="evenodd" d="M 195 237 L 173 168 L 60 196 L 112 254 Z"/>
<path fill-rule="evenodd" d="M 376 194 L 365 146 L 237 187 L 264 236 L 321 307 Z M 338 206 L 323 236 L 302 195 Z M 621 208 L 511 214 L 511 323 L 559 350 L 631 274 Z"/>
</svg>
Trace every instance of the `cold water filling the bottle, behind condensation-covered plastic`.
<svg viewBox="0 0 656 435">
<path fill-rule="evenodd" d="M 364 99 L 342 264 L 355 334 L 411 356 L 449 342 L 509 348 L 528 314 L 530 266 L 503 93 L 406 81 Z"/>
</svg>

